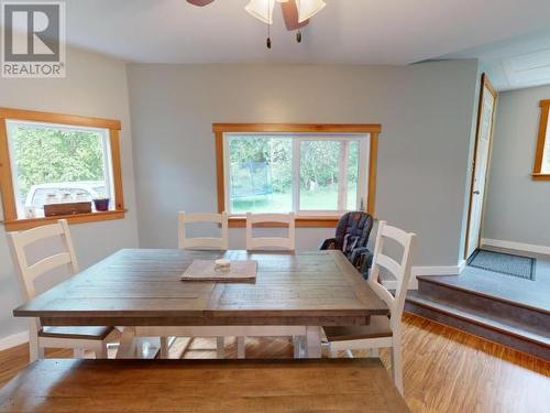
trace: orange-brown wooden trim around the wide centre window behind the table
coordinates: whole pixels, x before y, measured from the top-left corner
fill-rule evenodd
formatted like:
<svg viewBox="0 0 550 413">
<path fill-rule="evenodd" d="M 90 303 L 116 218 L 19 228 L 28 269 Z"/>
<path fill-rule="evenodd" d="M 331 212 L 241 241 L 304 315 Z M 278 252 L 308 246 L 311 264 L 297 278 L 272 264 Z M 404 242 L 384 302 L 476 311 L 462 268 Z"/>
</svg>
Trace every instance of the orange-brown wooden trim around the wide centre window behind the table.
<svg viewBox="0 0 550 413">
<path fill-rule="evenodd" d="M 272 132 L 272 133 L 365 133 L 370 134 L 369 150 L 369 196 L 366 211 L 374 216 L 376 205 L 376 170 L 378 159 L 378 138 L 382 126 L 378 123 L 365 124 L 323 124 L 323 123 L 213 123 L 216 144 L 216 172 L 218 192 L 218 213 L 226 209 L 226 172 L 223 166 L 223 133 L 230 132 Z M 340 219 L 339 215 L 330 216 L 299 216 L 296 218 L 296 227 L 336 227 Z M 229 217 L 230 227 L 244 227 L 246 218 L 239 215 Z M 277 224 L 264 224 L 263 226 L 276 227 Z"/>
</svg>

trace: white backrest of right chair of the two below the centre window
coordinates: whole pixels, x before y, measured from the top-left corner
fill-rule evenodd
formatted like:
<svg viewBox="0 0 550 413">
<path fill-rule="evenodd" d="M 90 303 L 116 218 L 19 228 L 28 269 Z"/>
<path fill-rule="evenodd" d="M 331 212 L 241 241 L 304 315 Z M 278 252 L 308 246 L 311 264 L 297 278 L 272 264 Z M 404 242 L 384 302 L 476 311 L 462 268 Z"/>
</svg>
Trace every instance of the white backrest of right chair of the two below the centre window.
<svg viewBox="0 0 550 413">
<path fill-rule="evenodd" d="M 267 222 L 286 224 L 288 226 L 288 237 L 252 237 L 253 225 Z M 294 214 L 246 214 L 246 250 L 279 248 L 294 251 L 295 238 Z"/>
</svg>

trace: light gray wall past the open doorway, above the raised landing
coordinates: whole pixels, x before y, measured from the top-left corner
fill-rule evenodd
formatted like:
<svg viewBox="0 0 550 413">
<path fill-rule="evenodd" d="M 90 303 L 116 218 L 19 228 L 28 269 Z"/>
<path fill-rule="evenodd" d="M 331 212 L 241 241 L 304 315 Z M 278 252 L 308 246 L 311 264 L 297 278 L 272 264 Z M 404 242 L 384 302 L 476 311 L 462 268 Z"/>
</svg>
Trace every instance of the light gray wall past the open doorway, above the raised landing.
<svg viewBox="0 0 550 413">
<path fill-rule="evenodd" d="M 550 182 L 531 180 L 541 99 L 550 86 L 502 93 L 483 238 L 550 247 Z"/>
</svg>

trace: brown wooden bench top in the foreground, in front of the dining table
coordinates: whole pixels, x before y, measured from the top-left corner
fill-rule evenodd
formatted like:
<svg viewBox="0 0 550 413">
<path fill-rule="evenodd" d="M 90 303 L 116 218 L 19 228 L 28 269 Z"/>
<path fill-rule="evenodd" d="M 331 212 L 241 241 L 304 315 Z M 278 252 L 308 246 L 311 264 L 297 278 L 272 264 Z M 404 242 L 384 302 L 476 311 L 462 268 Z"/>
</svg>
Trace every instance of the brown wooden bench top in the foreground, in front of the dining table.
<svg viewBox="0 0 550 413">
<path fill-rule="evenodd" d="M 35 361 L 0 412 L 409 412 L 377 359 Z"/>
</svg>

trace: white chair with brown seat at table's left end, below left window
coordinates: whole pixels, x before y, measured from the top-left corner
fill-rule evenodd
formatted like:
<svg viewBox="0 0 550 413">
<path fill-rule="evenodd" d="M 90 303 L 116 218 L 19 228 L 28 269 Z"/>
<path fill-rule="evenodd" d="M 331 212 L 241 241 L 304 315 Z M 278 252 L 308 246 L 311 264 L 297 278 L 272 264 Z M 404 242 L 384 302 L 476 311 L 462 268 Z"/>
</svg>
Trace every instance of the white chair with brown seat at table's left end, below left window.
<svg viewBox="0 0 550 413">
<path fill-rule="evenodd" d="M 34 282 L 44 273 L 63 265 L 67 265 L 70 275 L 78 272 L 75 249 L 65 219 L 26 231 L 10 232 L 9 236 L 13 261 L 28 301 L 36 296 Z M 64 251 L 29 264 L 25 248 L 52 238 L 61 238 Z M 38 318 L 31 319 L 29 332 L 31 362 L 44 358 L 44 348 L 72 348 L 76 358 L 84 357 L 84 351 L 87 349 L 92 350 L 96 358 L 107 358 L 107 343 L 113 330 L 113 327 L 47 327 L 41 326 Z"/>
</svg>

